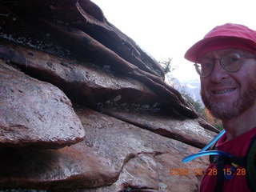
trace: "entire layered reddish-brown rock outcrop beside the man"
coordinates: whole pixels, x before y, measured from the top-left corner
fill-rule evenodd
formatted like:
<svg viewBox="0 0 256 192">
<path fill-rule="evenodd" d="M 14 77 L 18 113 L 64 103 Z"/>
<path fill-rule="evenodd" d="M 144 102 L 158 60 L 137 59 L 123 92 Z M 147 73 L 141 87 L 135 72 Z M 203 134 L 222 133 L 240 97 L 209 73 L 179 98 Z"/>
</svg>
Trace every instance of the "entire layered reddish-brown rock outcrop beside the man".
<svg viewBox="0 0 256 192">
<path fill-rule="evenodd" d="M 207 159 L 181 159 L 218 130 L 94 2 L 0 18 L 0 191 L 198 191 Z"/>
</svg>

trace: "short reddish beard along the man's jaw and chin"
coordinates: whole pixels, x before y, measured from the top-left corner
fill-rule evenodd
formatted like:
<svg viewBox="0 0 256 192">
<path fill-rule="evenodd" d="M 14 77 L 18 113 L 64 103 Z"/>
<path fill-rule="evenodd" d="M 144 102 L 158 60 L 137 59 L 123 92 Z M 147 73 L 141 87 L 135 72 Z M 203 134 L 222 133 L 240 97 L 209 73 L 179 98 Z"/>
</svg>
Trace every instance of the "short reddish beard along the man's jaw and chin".
<svg viewBox="0 0 256 192">
<path fill-rule="evenodd" d="M 246 90 L 242 97 L 238 97 L 229 103 L 211 101 L 201 90 L 202 102 L 215 118 L 221 120 L 237 118 L 256 102 L 256 81 L 251 82 Z"/>
</svg>

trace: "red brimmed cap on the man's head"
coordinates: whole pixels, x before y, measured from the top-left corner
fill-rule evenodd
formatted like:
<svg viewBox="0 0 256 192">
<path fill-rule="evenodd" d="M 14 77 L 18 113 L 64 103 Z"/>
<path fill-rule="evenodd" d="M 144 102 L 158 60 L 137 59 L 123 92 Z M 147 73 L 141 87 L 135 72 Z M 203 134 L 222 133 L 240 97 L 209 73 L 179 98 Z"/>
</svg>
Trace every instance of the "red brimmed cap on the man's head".
<svg viewBox="0 0 256 192">
<path fill-rule="evenodd" d="M 216 26 L 186 51 L 185 58 L 190 62 L 197 62 L 198 58 L 211 50 L 226 48 L 241 48 L 256 53 L 256 31 L 232 23 Z"/>
</svg>

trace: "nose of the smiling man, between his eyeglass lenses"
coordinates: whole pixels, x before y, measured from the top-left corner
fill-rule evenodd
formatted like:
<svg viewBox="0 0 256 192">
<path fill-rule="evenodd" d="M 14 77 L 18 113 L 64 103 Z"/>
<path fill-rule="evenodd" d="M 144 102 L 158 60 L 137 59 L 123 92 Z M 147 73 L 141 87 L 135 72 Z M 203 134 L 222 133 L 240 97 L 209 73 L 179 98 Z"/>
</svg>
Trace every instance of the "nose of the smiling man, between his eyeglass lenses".
<svg viewBox="0 0 256 192">
<path fill-rule="evenodd" d="M 212 82 L 218 83 L 227 77 L 228 77 L 228 72 L 222 68 L 220 59 L 215 59 L 214 69 L 210 74 L 210 80 Z"/>
</svg>

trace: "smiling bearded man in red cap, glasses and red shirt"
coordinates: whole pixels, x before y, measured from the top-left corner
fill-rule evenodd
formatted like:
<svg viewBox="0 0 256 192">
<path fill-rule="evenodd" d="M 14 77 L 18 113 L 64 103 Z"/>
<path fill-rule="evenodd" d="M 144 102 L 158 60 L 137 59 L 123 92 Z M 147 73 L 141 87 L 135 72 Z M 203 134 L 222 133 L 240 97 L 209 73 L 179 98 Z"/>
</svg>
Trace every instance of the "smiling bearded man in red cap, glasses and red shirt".
<svg viewBox="0 0 256 192">
<path fill-rule="evenodd" d="M 255 185 L 256 179 L 248 178 L 247 160 L 256 135 L 256 31 L 231 23 L 216 26 L 185 58 L 200 75 L 202 101 L 226 130 L 216 150 L 235 157 L 215 156 L 200 191 L 254 191 L 249 180 Z"/>
</svg>

